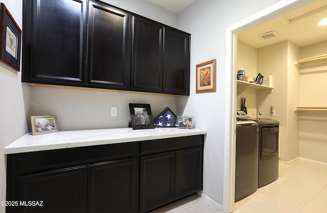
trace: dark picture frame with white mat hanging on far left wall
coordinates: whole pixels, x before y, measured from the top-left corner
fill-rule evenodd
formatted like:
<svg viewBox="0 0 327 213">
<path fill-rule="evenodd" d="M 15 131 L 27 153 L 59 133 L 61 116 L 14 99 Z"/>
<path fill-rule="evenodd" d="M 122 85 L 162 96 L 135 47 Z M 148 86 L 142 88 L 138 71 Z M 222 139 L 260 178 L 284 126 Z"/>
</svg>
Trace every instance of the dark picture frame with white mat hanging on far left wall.
<svg viewBox="0 0 327 213">
<path fill-rule="evenodd" d="M 0 6 L 1 61 L 20 71 L 21 30 L 7 7 Z"/>
</svg>

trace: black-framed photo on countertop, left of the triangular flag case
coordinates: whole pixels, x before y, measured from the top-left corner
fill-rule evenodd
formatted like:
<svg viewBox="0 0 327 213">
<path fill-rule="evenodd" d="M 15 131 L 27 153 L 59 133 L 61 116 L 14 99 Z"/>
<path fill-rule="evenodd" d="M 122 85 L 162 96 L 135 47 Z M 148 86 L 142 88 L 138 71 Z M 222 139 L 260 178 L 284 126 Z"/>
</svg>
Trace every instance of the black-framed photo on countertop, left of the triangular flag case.
<svg viewBox="0 0 327 213">
<path fill-rule="evenodd" d="M 154 129 L 150 104 L 129 104 L 133 129 Z"/>
</svg>

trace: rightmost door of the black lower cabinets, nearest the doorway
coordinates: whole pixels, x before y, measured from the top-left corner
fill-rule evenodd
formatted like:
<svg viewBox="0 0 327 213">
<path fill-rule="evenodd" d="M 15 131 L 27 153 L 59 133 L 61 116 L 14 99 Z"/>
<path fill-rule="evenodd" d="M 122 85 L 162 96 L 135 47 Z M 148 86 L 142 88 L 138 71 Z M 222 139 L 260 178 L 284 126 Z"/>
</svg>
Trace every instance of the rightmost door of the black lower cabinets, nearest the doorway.
<svg viewBox="0 0 327 213">
<path fill-rule="evenodd" d="M 176 151 L 175 199 L 202 189 L 202 151 L 200 147 Z"/>
</svg>

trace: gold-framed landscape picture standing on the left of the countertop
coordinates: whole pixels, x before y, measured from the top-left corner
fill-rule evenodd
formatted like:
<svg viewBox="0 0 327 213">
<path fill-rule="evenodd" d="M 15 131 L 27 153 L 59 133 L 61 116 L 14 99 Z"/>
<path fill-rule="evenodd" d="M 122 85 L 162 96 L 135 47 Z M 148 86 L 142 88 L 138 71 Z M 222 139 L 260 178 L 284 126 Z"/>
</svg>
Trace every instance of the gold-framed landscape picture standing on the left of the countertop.
<svg viewBox="0 0 327 213">
<path fill-rule="evenodd" d="M 46 134 L 52 132 L 58 132 L 57 116 L 31 116 L 32 134 Z"/>
</svg>

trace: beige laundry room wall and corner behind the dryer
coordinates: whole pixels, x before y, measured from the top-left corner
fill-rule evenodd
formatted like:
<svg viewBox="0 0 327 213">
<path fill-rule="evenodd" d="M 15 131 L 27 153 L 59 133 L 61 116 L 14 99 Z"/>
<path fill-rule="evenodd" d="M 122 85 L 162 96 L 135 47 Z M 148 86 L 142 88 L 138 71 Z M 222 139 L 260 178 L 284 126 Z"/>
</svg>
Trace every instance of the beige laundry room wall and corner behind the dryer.
<svg viewBox="0 0 327 213">
<path fill-rule="evenodd" d="M 282 41 L 258 49 L 258 69 L 264 76 L 273 78 L 273 92 L 260 91 L 257 104 L 261 117 L 275 119 L 281 125 L 279 159 L 290 161 L 299 156 L 298 128 L 293 109 L 299 103 L 299 74 L 294 61 L 299 55 L 299 46 L 291 41 Z M 275 116 L 270 116 L 270 106 Z"/>
</svg>

